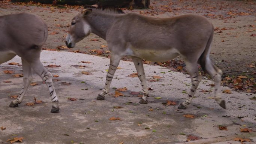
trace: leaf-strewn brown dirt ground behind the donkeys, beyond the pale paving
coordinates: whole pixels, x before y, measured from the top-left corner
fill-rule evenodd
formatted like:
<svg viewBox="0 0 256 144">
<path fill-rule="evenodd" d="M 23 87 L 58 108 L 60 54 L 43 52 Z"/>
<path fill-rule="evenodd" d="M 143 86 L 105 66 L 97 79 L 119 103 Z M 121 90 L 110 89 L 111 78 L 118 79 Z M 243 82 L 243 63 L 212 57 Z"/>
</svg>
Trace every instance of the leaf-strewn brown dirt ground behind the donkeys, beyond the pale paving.
<svg viewBox="0 0 256 144">
<path fill-rule="evenodd" d="M 70 27 L 70 21 L 80 9 L 82 7 L 79 6 L 63 9 L 49 4 L 0 2 L 0 15 L 32 12 L 45 19 L 49 27 L 49 36 L 44 49 L 109 56 L 106 41 L 95 34 L 91 34 L 77 43 L 73 49 L 68 49 L 65 46 L 64 41 Z M 223 85 L 249 93 L 256 92 L 255 1 L 151 0 L 150 9 L 124 9 L 124 12 L 137 12 L 159 18 L 187 13 L 207 17 L 215 27 L 210 58 L 223 71 Z M 182 58 L 178 57 L 175 61 L 171 61 L 170 65 L 165 66 L 177 70 L 177 65 L 184 65 L 179 59 Z M 237 76 L 247 76 L 248 78 L 244 80 L 244 83 L 241 83 L 239 88 L 234 85 L 233 80 L 224 79 L 225 77 L 236 79 Z"/>
</svg>

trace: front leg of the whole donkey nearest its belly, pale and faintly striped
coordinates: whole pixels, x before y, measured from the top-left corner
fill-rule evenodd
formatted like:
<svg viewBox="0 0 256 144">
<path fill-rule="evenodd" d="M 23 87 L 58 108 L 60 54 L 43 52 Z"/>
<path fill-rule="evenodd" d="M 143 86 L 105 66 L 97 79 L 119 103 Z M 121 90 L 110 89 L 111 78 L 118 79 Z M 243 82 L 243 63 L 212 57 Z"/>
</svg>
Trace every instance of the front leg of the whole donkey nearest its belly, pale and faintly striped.
<svg viewBox="0 0 256 144">
<path fill-rule="evenodd" d="M 146 75 L 144 72 L 142 59 L 138 57 L 132 57 L 132 61 L 138 72 L 138 78 L 140 79 L 142 90 L 143 90 L 143 96 L 139 103 L 147 104 L 147 96 L 149 95 L 149 91 L 147 90 Z"/>
</svg>

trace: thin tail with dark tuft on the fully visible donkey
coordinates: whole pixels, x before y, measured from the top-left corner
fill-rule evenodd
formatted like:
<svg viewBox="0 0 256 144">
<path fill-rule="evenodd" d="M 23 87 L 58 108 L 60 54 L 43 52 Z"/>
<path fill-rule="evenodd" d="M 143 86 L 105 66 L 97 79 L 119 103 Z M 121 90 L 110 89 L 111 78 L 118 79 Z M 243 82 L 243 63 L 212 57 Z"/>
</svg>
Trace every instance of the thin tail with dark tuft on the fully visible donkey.
<svg viewBox="0 0 256 144">
<path fill-rule="evenodd" d="M 205 73 L 208 73 L 208 74 L 210 74 L 209 73 L 210 71 L 208 71 L 206 67 L 207 67 L 207 64 L 209 64 L 209 61 L 210 61 L 209 55 L 210 55 L 210 50 L 211 50 L 210 49 L 211 42 L 213 40 L 213 33 L 214 33 L 214 27 L 212 25 L 212 31 L 211 31 L 211 35 L 208 39 L 207 45 L 205 46 L 204 52 L 201 54 L 201 56 L 198 59 L 198 64 L 200 64 L 202 70 Z M 210 63 L 214 67 L 214 69 L 218 71 L 218 68 L 212 62 L 210 62 Z"/>
</svg>

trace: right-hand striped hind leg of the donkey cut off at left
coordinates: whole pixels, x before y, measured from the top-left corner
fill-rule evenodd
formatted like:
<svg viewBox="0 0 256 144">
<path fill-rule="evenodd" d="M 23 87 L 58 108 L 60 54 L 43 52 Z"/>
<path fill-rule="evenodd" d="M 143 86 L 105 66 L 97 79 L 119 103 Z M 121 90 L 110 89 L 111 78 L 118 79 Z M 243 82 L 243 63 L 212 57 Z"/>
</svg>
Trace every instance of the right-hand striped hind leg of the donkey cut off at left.
<svg viewBox="0 0 256 144">
<path fill-rule="evenodd" d="M 52 74 L 46 70 L 46 68 L 43 66 L 39 59 L 37 61 L 32 62 L 31 67 L 36 72 L 36 74 L 42 78 L 42 80 L 45 82 L 49 89 L 52 100 L 51 113 L 58 113 L 60 110 L 60 108 L 58 107 L 59 100 L 58 96 L 56 95 L 54 85 L 52 83 Z"/>
</svg>

